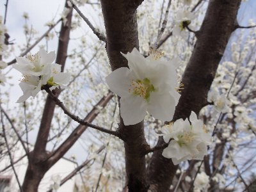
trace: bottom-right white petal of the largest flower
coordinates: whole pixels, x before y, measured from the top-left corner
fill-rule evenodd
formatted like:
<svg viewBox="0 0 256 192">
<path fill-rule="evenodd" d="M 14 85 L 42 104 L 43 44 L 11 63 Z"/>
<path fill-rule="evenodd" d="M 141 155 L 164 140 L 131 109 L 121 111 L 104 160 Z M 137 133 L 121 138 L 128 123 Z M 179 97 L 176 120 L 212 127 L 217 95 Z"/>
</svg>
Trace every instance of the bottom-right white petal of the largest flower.
<svg viewBox="0 0 256 192">
<path fill-rule="evenodd" d="M 151 93 L 147 110 L 154 118 L 170 121 L 175 111 L 175 99 L 168 92 L 163 94 Z"/>
</svg>

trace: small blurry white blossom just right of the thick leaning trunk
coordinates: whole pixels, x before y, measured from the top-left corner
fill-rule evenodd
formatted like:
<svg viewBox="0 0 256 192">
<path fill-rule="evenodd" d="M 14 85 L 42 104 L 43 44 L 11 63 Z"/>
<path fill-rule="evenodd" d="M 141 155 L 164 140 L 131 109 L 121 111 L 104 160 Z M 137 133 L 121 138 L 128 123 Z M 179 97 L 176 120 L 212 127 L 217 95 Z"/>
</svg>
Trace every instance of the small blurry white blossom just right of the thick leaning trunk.
<svg viewBox="0 0 256 192">
<path fill-rule="evenodd" d="M 228 112 L 228 99 L 225 94 L 221 94 L 217 90 L 212 90 L 208 93 L 207 97 L 208 102 L 214 103 L 214 109 L 219 113 L 227 113 Z"/>
</svg>

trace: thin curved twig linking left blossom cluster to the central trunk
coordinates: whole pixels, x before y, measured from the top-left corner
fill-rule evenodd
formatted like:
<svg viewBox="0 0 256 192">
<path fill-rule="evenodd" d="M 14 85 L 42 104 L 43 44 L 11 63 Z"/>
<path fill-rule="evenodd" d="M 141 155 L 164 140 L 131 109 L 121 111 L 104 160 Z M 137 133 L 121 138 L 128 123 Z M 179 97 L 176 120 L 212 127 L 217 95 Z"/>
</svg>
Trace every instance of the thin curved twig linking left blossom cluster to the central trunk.
<svg viewBox="0 0 256 192">
<path fill-rule="evenodd" d="M 109 129 L 105 129 L 103 127 L 99 127 L 97 125 L 93 125 L 90 124 L 88 122 L 84 122 L 83 119 L 79 118 L 79 116 L 76 116 L 72 113 L 70 113 L 70 111 L 68 111 L 68 109 L 63 105 L 63 102 L 60 101 L 60 99 L 58 99 L 58 97 L 56 97 L 50 90 L 49 88 L 45 88 L 45 91 L 52 97 L 52 99 L 55 101 L 56 105 L 60 106 L 60 108 L 64 111 L 64 113 L 68 116 L 70 116 L 70 118 L 72 118 L 72 120 L 75 120 L 76 122 L 78 122 L 81 125 L 85 125 L 88 127 L 92 127 L 93 129 L 96 129 L 98 131 L 102 131 L 102 132 L 106 132 L 108 134 L 111 134 L 113 136 L 116 136 L 118 138 L 121 138 L 120 134 L 117 131 L 111 131 Z"/>
</svg>

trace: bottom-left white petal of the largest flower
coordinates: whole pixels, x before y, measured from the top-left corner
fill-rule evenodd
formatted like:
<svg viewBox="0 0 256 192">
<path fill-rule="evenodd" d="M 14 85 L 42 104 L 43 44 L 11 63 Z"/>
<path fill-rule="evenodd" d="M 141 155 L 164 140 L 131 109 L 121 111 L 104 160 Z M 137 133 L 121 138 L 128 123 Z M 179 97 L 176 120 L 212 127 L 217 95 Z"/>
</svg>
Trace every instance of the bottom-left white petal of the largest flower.
<svg viewBox="0 0 256 192">
<path fill-rule="evenodd" d="M 124 125 L 134 125 L 140 123 L 147 112 L 145 99 L 135 95 L 121 97 L 120 115 L 124 120 Z"/>
</svg>

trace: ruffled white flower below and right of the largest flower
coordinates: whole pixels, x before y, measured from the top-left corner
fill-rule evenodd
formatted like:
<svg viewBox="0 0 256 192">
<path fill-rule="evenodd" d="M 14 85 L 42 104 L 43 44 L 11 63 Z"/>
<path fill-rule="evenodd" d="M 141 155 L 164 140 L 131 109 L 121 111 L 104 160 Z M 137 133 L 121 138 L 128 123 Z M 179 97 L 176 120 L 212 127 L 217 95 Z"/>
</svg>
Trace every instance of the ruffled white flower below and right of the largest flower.
<svg viewBox="0 0 256 192">
<path fill-rule="evenodd" d="M 207 133 L 202 120 L 198 120 L 195 112 L 191 111 L 186 120 L 179 119 L 173 124 L 162 128 L 164 141 L 170 144 L 163 150 L 163 156 L 172 158 L 173 164 L 191 159 L 204 159 L 207 145 L 211 144 L 211 136 Z"/>
</svg>

